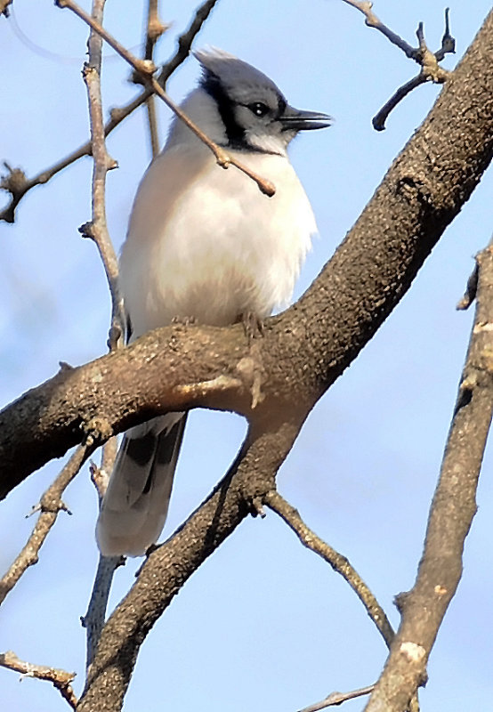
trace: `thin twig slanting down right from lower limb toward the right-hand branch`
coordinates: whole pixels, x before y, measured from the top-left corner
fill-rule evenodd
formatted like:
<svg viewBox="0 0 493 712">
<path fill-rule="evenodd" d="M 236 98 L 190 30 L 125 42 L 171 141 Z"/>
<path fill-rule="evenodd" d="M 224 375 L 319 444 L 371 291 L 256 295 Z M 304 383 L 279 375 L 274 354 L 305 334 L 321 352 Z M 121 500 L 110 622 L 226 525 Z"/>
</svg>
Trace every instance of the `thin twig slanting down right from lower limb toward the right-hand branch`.
<svg viewBox="0 0 493 712">
<path fill-rule="evenodd" d="M 328 546 L 325 541 L 322 541 L 322 539 L 307 527 L 295 507 L 291 506 L 286 499 L 281 497 L 279 492 L 272 490 L 264 498 L 264 502 L 267 506 L 271 507 L 273 512 L 279 514 L 279 517 L 295 532 L 304 546 L 316 554 L 319 554 L 337 573 L 340 573 L 341 576 L 345 578 L 352 587 L 352 590 L 360 598 L 361 603 L 365 606 L 368 616 L 373 620 L 380 631 L 387 647 L 390 648 L 394 632 L 389 619 L 387 619 L 382 606 L 376 601 L 376 597 L 371 593 L 363 579 L 360 578 L 359 573 L 352 567 L 346 557 L 336 552 L 332 546 Z"/>
</svg>

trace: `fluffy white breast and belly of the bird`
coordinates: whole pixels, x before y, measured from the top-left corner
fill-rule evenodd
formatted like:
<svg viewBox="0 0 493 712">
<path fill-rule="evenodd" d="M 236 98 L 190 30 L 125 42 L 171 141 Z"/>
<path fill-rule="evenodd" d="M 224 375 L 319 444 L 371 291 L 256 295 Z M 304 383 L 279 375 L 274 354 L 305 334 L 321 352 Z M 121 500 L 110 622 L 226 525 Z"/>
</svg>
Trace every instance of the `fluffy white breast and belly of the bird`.
<svg viewBox="0 0 493 712">
<path fill-rule="evenodd" d="M 133 335 L 175 316 L 214 325 L 287 303 L 316 231 L 285 157 L 237 154 L 276 186 L 268 198 L 202 146 L 174 146 L 142 179 L 120 271 Z"/>
</svg>

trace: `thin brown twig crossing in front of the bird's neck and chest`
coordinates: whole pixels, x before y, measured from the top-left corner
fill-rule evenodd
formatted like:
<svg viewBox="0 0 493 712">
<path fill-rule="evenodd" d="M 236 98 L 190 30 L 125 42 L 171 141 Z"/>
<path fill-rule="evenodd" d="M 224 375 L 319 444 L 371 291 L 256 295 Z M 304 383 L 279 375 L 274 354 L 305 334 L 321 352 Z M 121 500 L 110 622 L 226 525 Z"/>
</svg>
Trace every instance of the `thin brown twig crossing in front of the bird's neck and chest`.
<svg viewBox="0 0 493 712">
<path fill-rule="evenodd" d="M 191 119 L 180 109 L 180 107 L 174 103 L 174 101 L 167 95 L 163 87 L 158 83 L 158 80 L 153 77 L 156 67 L 154 63 L 149 60 L 140 60 L 135 57 L 131 52 L 129 52 L 123 44 L 120 44 L 115 37 L 109 34 L 109 32 L 101 27 L 101 23 L 93 20 L 93 18 L 87 14 L 74 0 L 57 0 L 57 4 L 61 8 L 69 8 L 72 12 L 75 12 L 81 20 L 84 20 L 89 27 L 93 28 L 98 32 L 101 37 L 108 42 L 108 44 L 113 47 L 115 52 L 117 52 L 121 57 L 127 61 L 133 69 L 139 72 L 142 76 L 143 81 L 146 85 L 150 86 L 153 92 L 158 94 L 158 97 L 162 99 L 166 106 L 168 106 L 174 114 L 179 117 L 182 122 L 190 128 L 201 142 L 205 143 L 207 148 L 211 150 L 214 154 L 215 160 L 218 166 L 222 168 L 229 168 L 230 166 L 235 166 L 239 171 L 246 174 L 251 178 L 259 187 L 265 195 L 271 197 L 275 194 L 276 189 L 271 181 L 263 178 L 261 175 L 256 174 L 255 171 L 250 170 L 247 166 L 242 164 L 236 158 L 230 156 L 227 151 L 218 146 L 217 143 L 212 141 Z"/>
</svg>

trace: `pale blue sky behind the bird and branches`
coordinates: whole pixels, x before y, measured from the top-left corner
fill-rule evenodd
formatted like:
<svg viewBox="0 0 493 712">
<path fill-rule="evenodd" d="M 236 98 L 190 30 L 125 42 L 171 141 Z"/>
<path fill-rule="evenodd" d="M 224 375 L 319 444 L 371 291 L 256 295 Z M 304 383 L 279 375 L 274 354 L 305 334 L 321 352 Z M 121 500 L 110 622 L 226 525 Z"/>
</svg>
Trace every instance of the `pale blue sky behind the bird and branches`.
<svg viewBox="0 0 493 712">
<path fill-rule="evenodd" d="M 195 3 L 165 4 L 172 28 L 158 61 L 173 53 Z M 85 6 L 88 6 L 85 4 Z M 487 0 L 452 0 L 457 55 L 489 11 Z M 109 0 L 107 26 L 127 46 L 141 45 L 143 3 Z M 436 0 L 374 7 L 411 44 L 418 21 L 432 49 L 440 44 L 443 7 Z M 50 2 L 14 0 L 13 21 L 0 20 L 3 111 L 0 157 L 36 174 L 87 134 L 80 69 L 86 29 Z M 20 36 L 22 33 L 22 38 Z M 27 36 L 36 50 L 27 46 Z M 360 214 L 440 89 L 420 87 L 400 104 L 384 133 L 371 118 L 394 89 L 416 73 L 383 36 L 365 27 L 342 0 L 220 0 L 196 46 L 214 44 L 271 76 L 289 101 L 326 111 L 335 125 L 303 135 L 291 152 L 311 198 L 319 238 L 296 294 L 311 283 Z M 53 53 L 48 56 L 46 52 Z M 105 106 L 135 92 L 128 69 L 107 49 Z M 198 76 L 193 59 L 175 74 L 169 92 L 182 99 Z M 164 138 L 169 113 L 160 109 Z M 119 168 L 109 174 L 109 230 L 117 248 L 133 193 L 150 154 L 142 111 L 109 139 Z M 0 224 L 0 402 L 53 375 L 60 360 L 84 363 L 105 351 L 109 296 L 93 243 L 77 227 L 90 217 L 91 161 L 85 158 L 32 190 L 17 222 Z M 309 417 L 279 473 L 279 490 L 328 543 L 347 555 L 384 605 L 412 586 L 428 507 L 440 469 L 473 313 L 456 312 L 473 269 L 473 255 L 491 233 L 491 174 L 446 231 L 399 307 Z M 219 480 L 236 453 L 245 424 L 230 414 L 194 413 L 186 433 L 166 537 Z M 5 569 L 34 525 L 25 519 L 59 471 L 55 462 L 0 503 L 0 565 Z M 493 487 L 487 453 L 479 512 L 465 550 L 465 575 L 429 665 L 421 693 L 424 712 L 489 708 Z M 97 563 L 93 539 L 97 502 L 86 469 L 66 493 L 73 512 L 61 516 L 29 570 L 0 609 L 0 650 L 76 670 L 83 683 L 86 610 Z M 133 582 L 137 562 L 117 571 L 116 604 Z M 247 520 L 183 588 L 142 646 L 125 709 L 162 708 L 285 712 L 333 690 L 372 683 L 385 647 L 342 579 L 299 545 L 269 513 Z M 157 683 L 157 684 L 156 684 Z M 63 709 L 49 684 L 0 669 L 5 708 Z M 363 707 L 361 700 L 344 709 Z"/>
</svg>

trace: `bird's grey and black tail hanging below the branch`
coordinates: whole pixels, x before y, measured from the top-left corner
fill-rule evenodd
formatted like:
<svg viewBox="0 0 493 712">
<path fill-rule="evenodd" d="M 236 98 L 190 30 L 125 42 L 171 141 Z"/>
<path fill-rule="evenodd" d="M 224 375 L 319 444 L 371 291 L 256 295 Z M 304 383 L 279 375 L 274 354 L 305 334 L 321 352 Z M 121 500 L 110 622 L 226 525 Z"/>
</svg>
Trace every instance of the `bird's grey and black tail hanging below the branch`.
<svg viewBox="0 0 493 712">
<path fill-rule="evenodd" d="M 186 419 L 186 413 L 168 413 L 125 433 L 96 526 L 104 556 L 141 556 L 157 541 Z"/>
</svg>

